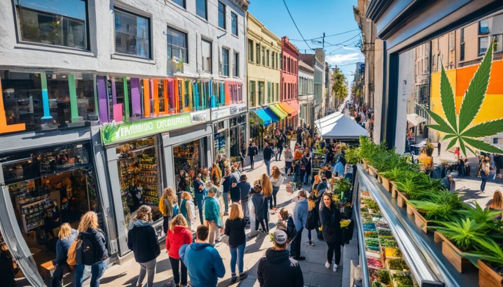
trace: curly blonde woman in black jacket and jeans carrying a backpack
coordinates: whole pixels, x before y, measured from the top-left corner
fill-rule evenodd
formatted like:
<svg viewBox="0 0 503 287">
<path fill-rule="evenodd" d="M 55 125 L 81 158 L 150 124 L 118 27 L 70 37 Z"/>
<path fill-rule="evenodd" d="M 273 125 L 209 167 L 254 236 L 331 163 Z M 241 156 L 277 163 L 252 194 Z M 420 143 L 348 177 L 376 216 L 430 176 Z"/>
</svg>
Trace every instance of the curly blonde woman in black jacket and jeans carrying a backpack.
<svg viewBox="0 0 503 287">
<path fill-rule="evenodd" d="M 98 225 L 98 215 L 93 211 L 86 212 L 80 218 L 77 230 L 77 238 L 82 243 L 75 251 L 75 287 L 82 286 L 85 265 L 91 266 L 91 287 L 99 287 L 100 277 L 107 267 L 105 260 L 108 258 L 108 250 L 107 239 Z"/>
</svg>

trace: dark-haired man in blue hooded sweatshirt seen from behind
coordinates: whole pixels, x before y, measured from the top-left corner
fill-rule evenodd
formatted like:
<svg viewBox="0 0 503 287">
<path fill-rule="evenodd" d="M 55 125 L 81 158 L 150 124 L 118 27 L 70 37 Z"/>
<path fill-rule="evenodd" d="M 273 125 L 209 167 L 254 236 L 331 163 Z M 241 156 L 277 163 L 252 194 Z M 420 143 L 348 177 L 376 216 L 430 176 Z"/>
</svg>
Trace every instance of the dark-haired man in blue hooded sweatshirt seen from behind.
<svg viewBox="0 0 503 287">
<path fill-rule="evenodd" d="M 196 242 L 180 247 L 180 259 L 187 266 L 192 287 L 216 287 L 218 278 L 225 275 L 225 266 L 218 251 L 208 243 L 209 228 L 200 225 Z"/>
</svg>

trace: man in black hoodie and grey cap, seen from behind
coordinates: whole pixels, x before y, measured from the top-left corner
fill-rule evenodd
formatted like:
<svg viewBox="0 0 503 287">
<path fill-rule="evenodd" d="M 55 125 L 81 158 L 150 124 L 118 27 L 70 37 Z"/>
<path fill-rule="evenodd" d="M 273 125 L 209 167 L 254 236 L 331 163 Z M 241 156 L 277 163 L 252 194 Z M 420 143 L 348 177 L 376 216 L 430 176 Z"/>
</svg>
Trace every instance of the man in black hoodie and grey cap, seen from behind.
<svg viewBox="0 0 503 287">
<path fill-rule="evenodd" d="M 266 257 L 260 258 L 257 276 L 261 287 L 302 287 L 304 278 L 299 262 L 290 258 L 286 250 L 287 234 L 276 230 L 273 234 L 274 247 L 267 249 Z"/>
</svg>

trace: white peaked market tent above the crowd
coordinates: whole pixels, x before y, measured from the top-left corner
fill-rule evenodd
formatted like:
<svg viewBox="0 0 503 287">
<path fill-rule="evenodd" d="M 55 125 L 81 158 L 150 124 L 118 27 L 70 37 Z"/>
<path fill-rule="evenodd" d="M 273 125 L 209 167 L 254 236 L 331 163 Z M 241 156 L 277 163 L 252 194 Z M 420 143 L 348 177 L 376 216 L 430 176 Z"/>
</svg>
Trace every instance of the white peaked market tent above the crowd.
<svg viewBox="0 0 503 287">
<path fill-rule="evenodd" d="M 314 122 L 324 139 L 359 139 L 367 136 L 367 130 L 352 118 L 335 112 Z"/>
</svg>

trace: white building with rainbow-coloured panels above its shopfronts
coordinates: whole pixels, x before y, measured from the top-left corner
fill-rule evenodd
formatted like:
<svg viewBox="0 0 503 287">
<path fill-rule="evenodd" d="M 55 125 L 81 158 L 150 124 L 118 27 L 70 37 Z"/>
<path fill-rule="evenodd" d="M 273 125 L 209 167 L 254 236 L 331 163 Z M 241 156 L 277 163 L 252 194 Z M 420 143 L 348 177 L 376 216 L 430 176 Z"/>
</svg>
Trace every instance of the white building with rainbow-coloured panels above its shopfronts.
<svg viewBox="0 0 503 287">
<path fill-rule="evenodd" d="M 110 253 L 123 256 L 140 202 L 161 229 L 164 187 L 244 147 L 248 4 L 0 3 L 0 185 L 9 195 L 0 242 L 32 285 L 43 284 L 37 265 L 50 251 L 23 236 L 40 228 L 44 209 L 67 203 L 72 223 L 96 211 Z"/>
</svg>

